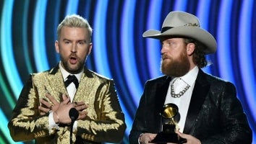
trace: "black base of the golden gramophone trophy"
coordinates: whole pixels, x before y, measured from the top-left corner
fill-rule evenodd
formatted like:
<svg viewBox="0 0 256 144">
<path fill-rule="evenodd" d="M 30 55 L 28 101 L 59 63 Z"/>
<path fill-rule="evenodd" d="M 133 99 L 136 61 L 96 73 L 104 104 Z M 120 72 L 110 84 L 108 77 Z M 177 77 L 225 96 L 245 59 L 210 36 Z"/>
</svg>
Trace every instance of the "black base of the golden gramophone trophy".
<svg viewBox="0 0 256 144">
<path fill-rule="evenodd" d="M 150 143 L 187 143 L 187 139 L 180 138 L 176 133 L 160 132 Z"/>
</svg>

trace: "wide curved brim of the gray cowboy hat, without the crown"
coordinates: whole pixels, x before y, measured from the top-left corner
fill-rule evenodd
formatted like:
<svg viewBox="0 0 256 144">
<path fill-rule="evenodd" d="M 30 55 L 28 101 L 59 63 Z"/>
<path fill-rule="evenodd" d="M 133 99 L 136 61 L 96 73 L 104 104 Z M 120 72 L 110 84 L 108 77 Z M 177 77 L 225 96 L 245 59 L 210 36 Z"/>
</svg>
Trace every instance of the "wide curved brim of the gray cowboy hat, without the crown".
<svg viewBox="0 0 256 144">
<path fill-rule="evenodd" d="M 198 40 L 206 46 L 205 54 L 215 53 L 217 49 L 217 43 L 213 35 L 210 35 L 209 32 L 202 30 L 200 27 L 173 27 L 163 33 L 158 30 L 148 30 L 142 35 L 142 37 L 149 37 L 154 39 L 161 39 L 161 37 L 166 36 L 182 36 Z"/>
</svg>

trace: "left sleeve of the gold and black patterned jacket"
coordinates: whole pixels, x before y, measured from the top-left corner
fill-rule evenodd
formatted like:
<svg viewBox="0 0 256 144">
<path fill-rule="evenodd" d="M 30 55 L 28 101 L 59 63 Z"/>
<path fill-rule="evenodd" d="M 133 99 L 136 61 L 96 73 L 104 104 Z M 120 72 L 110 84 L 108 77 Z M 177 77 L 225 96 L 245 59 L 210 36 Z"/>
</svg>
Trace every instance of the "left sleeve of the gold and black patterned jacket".
<svg viewBox="0 0 256 144">
<path fill-rule="evenodd" d="M 33 140 L 48 134 L 48 115 L 40 116 L 39 99 L 33 88 L 32 75 L 22 88 L 20 97 L 8 123 L 14 141 Z"/>
</svg>

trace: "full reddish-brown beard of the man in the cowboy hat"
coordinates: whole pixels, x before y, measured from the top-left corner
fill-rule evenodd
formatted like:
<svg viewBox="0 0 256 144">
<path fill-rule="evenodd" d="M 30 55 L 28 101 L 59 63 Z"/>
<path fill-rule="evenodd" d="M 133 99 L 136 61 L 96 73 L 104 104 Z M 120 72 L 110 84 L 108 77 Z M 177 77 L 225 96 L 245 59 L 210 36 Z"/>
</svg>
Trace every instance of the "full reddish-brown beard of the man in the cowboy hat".
<svg viewBox="0 0 256 144">
<path fill-rule="evenodd" d="M 179 58 L 176 60 L 173 58 L 168 58 L 166 60 L 163 60 L 162 58 L 161 60 L 161 71 L 166 76 L 184 76 L 189 71 L 189 67 L 189 59 L 185 52 L 179 55 Z"/>
</svg>

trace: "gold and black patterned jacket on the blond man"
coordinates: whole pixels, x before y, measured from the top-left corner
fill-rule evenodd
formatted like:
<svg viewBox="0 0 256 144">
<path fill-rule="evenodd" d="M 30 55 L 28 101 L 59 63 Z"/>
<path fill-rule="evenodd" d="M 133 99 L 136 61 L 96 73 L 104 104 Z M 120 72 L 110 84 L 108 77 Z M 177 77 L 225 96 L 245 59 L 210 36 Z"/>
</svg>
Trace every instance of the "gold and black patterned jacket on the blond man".
<svg viewBox="0 0 256 144">
<path fill-rule="evenodd" d="M 33 73 L 23 87 L 8 127 L 15 141 L 34 140 L 35 143 L 69 143 L 69 125 L 48 130 L 48 114 L 40 116 L 39 99 L 49 92 L 59 102 L 67 94 L 59 66 L 42 73 Z M 68 94 L 67 94 L 68 95 Z M 73 143 L 118 143 L 124 136 L 126 124 L 114 81 L 85 68 L 74 102 L 89 107 L 85 120 L 77 120 Z"/>
</svg>

